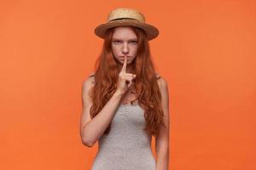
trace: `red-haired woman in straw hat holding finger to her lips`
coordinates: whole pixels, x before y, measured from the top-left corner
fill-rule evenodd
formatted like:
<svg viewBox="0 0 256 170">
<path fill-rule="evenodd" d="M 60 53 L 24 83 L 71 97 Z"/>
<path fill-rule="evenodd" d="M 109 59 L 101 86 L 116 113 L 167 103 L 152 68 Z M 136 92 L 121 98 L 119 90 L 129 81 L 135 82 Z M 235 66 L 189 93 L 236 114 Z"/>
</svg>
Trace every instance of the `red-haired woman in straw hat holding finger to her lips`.
<svg viewBox="0 0 256 170">
<path fill-rule="evenodd" d="M 95 73 L 83 83 L 80 124 L 83 144 L 99 144 L 92 169 L 167 170 L 168 88 L 154 71 L 148 44 L 158 29 L 139 11 L 116 8 L 95 33 L 104 44 Z"/>
</svg>

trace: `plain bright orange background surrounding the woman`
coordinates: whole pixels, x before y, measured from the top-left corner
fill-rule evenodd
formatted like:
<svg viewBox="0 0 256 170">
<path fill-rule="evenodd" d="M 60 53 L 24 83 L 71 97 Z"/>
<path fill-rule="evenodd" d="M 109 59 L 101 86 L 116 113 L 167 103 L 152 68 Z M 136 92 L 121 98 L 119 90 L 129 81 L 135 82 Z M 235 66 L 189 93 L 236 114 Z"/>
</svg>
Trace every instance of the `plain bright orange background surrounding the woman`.
<svg viewBox="0 0 256 170">
<path fill-rule="evenodd" d="M 170 169 L 256 169 L 253 0 L 1 1 L 0 169 L 90 169 L 81 87 L 102 49 L 94 28 L 118 7 L 160 29 L 150 46 L 169 84 Z"/>
</svg>

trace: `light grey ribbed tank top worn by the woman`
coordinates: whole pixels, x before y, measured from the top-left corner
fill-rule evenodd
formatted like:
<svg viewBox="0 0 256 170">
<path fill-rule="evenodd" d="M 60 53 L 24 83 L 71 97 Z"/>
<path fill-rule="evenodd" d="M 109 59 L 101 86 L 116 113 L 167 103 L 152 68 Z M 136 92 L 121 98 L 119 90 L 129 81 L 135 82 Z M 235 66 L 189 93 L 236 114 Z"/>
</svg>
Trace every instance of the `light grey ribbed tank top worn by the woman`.
<svg viewBox="0 0 256 170">
<path fill-rule="evenodd" d="M 143 108 L 137 103 L 120 104 L 113 116 L 108 134 L 98 140 L 98 151 L 92 170 L 154 170 L 151 134 L 146 126 Z"/>
</svg>

